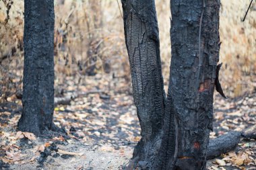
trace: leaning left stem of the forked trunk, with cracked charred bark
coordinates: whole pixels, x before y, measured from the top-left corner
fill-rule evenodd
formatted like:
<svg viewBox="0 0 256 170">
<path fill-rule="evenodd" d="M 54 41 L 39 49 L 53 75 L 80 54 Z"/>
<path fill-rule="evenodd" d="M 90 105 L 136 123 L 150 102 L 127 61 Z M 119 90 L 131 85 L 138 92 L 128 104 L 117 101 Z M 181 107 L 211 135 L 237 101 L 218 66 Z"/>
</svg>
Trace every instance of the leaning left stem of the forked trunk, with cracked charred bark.
<svg viewBox="0 0 256 170">
<path fill-rule="evenodd" d="M 166 103 L 158 22 L 153 0 L 123 0 L 122 6 L 133 99 L 141 126 L 141 140 L 135 147 L 131 165 L 139 162 L 143 167 L 158 153 Z"/>
</svg>

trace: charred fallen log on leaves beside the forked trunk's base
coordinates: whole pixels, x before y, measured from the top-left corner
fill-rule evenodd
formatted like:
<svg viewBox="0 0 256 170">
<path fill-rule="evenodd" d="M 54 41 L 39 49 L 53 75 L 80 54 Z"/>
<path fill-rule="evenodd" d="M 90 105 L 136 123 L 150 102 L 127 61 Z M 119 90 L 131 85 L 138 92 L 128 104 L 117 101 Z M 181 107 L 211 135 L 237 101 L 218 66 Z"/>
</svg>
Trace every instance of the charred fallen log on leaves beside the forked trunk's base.
<svg viewBox="0 0 256 170">
<path fill-rule="evenodd" d="M 256 125 L 243 130 L 243 132 L 232 131 L 210 140 L 207 149 L 207 160 L 233 151 L 242 138 L 256 139 Z"/>
</svg>

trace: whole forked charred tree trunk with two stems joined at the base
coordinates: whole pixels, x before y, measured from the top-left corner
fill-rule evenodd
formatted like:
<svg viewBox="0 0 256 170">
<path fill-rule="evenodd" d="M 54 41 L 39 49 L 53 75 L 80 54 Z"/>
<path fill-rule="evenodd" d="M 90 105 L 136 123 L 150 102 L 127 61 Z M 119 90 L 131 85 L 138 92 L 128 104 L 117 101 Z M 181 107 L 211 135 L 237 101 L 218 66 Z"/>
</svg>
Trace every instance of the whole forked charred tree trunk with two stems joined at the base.
<svg viewBox="0 0 256 170">
<path fill-rule="evenodd" d="M 220 50 L 220 1 L 170 1 L 172 60 L 167 102 L 154 0 L 122 3 L 142 136 L 127 169 L 204 169 Z"/>
</svg>

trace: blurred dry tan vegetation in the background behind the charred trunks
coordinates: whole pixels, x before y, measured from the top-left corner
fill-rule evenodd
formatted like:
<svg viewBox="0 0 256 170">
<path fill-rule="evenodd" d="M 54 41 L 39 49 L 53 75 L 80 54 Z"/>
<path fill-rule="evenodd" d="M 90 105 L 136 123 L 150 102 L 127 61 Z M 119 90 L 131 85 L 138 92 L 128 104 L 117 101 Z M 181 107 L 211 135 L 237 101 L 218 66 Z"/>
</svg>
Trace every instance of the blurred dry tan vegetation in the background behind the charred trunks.
<svg viewBox="0 0 256 170">
<path fill-rule="evenodd" d="M 256 91 L 256 3 L 222 0 L 220 81 L 228 97 Z M 55 86 L 103 75 L 131 87 L 120 0 L 55 0 Z M 170 2 L 156 0 L 165 89 L 170 67 Z M 0 0 L 0 100 L 22 90 L 24 1 Z"/>
</svg>

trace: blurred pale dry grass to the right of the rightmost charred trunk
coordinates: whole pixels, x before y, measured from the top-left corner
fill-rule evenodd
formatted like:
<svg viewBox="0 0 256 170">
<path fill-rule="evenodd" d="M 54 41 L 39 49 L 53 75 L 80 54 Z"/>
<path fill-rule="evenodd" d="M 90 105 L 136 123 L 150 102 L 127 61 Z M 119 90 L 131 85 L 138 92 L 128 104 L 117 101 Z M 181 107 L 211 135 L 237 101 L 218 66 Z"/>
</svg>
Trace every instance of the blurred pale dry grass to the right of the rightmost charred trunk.
<svg viewBox="0 0 256 170">
<path fill-rule="evenodd" d="M 256 3 L 241 22 L 250 1 L 222 1 L 220 13 L 220 61 L 223 85 L 230 88 L 231 96 L 238 96 L 255 87 L 256 74 Z M 248 79 L 245 79 L 248 77 Z M 254 78 L 253 78 L 254 77 Z M 255 80 L 254 80 L 255 83 Z"/>
</svg>

